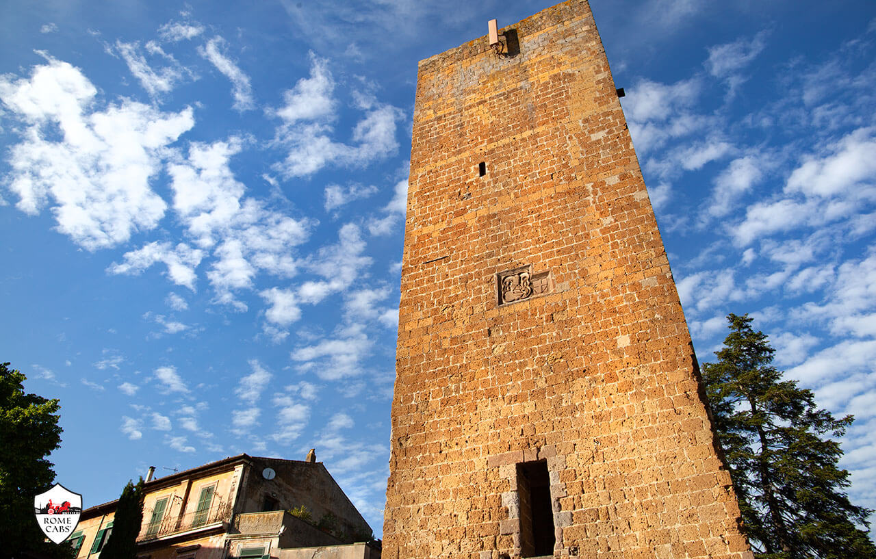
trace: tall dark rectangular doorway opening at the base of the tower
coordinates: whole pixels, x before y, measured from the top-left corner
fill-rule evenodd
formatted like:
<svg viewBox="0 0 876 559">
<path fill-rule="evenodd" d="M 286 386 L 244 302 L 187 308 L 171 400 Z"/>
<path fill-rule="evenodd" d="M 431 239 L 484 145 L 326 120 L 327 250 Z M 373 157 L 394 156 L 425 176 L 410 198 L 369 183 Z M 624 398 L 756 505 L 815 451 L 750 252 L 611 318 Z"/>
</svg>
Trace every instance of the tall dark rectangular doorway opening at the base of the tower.
<svg viewBox="0 0 876 559">
<path fill-rule="evenodd" d="M 520 502 L 520 555 L 554 555 L 554 511 L 550 499 L 550 476 L 545 460 L 517 464 Z"/>
</svg>

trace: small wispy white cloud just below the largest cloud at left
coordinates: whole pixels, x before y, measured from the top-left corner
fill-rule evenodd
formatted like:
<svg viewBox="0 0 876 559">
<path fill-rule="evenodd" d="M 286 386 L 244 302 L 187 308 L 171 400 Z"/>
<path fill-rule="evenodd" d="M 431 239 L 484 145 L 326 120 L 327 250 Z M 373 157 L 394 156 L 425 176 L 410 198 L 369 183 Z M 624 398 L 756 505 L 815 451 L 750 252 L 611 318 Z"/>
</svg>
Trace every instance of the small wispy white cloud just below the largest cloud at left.
<svg viewBox="0 0 876 559">
<path fill-rule="evenodd" d="M 135 251 L 124 253 L 124 262 L 113 262 L 107 272 L 115 274 L 139 275 L 159 262 L 167 266 L 167 279 L 174 284 L 188 287 L 194 291 L 197 281 L 195 268 L 201 264 L 204 251 L 193 249 L 188 244 L 180 243 L 172 247 L 169 242 L 152 241 Z M 183 301 L 185 302 L 185 301 Z"/>
</svg>

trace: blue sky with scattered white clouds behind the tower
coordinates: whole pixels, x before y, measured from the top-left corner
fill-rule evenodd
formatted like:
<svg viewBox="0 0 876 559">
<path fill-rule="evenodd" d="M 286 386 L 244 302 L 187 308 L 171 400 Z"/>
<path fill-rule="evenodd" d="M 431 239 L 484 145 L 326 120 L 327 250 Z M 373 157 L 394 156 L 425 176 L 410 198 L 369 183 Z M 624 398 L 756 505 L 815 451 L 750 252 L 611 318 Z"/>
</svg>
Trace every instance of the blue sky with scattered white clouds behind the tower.
<svg viewBox="0 0 876 559">
<path fill-rule="evenodd" d="M 317 459 L 380 534 L 417 61 L 550 2 L 6 2 L 0 360 L 84 506 Z M 876 4 L 593 0 L 697 356 L 751 313 L 876 508 Z"/>
</svg>

